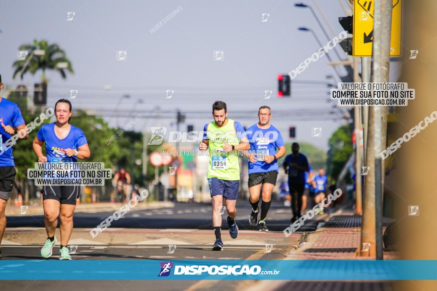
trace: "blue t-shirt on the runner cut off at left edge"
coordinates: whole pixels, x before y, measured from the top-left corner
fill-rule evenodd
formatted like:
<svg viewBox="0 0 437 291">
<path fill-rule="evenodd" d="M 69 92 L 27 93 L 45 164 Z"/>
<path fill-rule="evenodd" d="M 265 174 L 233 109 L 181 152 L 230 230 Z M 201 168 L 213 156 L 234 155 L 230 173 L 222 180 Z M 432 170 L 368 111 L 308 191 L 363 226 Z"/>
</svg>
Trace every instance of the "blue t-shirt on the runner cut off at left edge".
<svg viewBox="0 0 437 291">
<path fill-rule="evenodd" d="M 18 106 L 6 98 L 1 98 L 0 100 L 0 118 L 3 119 L 4 125 L 17 127 L 24 124 L 24 119 Z M 12 147 L 9 147 L 9 143 L 6 143 L 11 135 L 4 131 L 1 125 L 0 135 L 0 167 L 15 166 L 12 156 Z M 6 149 L 6 147 L 9 148 Z"/>
</svg>

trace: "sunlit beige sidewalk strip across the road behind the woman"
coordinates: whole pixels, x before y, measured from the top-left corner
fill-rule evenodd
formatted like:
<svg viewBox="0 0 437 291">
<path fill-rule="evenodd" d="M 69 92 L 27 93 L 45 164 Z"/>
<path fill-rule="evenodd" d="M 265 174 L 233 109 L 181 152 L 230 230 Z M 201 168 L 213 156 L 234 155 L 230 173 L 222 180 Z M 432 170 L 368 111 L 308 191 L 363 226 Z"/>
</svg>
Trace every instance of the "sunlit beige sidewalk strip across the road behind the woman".
<svg viewBox="0 0 437 291">
<path fill-rule="evenodd" d="M 111 203 L 111 202 L 99 202 L 99 203 L 89 203 L 89 204 L 78 204 L 76 205 L 75 213 L 78 212 L 106 212 L 106 211 L 116 211 L 119 210 L 125 203 Z M 152 201 L 152 202 L 139 202 L 135 206 L 136 210 L 140 209 L 156 209 L 164 207 L 174 207 L 174 202 L 169 201 Z M 23 213 L 25 212 L 25 213 Z M 20 214 L 22 213 L 22 214 Z M 6 206 L 5 210 L 6 216 L 26 216 L 26 215 L 43 215 L 43 206 L 28 206 L 24 211 L 21 206 Z"/>
</svg>

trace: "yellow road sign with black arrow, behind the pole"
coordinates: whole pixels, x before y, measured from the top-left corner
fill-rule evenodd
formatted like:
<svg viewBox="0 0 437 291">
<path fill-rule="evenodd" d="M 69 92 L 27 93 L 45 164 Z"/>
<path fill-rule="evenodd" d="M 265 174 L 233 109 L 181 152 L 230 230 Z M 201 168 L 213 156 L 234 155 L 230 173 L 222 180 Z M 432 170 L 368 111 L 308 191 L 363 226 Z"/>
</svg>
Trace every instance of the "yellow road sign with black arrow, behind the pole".
<svg viewBox="0 0 437 291">
<path fill-rule="evenodd" d="M 373 44 L 374 0 L 354 0 L 354 32 L 352 55 L 371 57 Z M 402 0 L 393 0 L 391 16 L 390 56 L 401 56 Z"/>
</svg>

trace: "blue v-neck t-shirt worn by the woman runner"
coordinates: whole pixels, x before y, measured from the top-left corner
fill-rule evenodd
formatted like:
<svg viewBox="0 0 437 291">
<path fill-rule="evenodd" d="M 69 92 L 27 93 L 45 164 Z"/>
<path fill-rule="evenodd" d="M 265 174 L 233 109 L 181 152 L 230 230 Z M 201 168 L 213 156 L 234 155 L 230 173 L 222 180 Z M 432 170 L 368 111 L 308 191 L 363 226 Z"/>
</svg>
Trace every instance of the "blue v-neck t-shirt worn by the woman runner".
<svg viewBox="0 0 437 291">
<path fill-rule="evenodd" d="M 38 139 L 46 143 L 47 162 L 77 162 L 76 157 L 67 156 L 64 153 L 64 149 L 77 149 L 88 142 L 80 128 L 73 125 L 70 126 L 70 132 L 63 139 L 59 139 L 55 134 L 55 122 L 44 124 L 38 130 L 36 134 Z"/>
</svg>

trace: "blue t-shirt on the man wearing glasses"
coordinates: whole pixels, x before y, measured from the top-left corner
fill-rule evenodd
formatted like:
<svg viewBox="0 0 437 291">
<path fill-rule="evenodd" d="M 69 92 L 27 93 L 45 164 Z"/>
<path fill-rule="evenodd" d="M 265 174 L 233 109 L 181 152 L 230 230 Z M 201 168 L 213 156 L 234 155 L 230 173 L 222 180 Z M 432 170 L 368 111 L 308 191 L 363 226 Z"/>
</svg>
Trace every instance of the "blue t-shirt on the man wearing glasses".
<svg viewBox="0 0 437 291">
<path fill-rule="evenodd" d="M 256 152 L 258 158 L 255 163 L 248 161 L 249 174 L 279 172 L 278 161 L 267 164 L 264 162 L 264 156 L 273 156 L 277 153 L 277 148 L 284 146 L 281 132 L 273 125 L 264 129 L 259 128 L 258 123 L 255 123 L 247 128 L 246 136 L 250 142 L 250 151 Z"/>
</svg>

